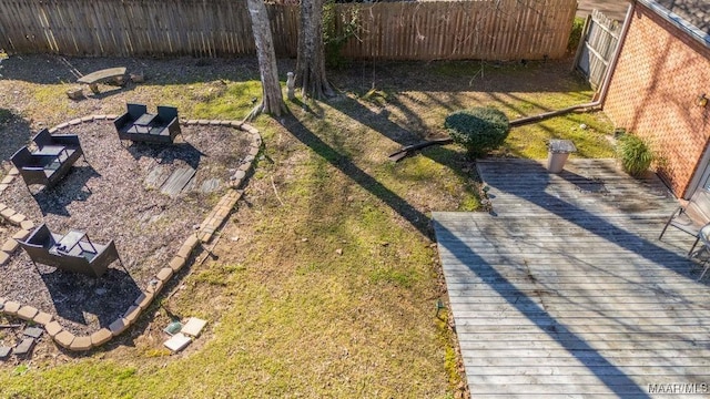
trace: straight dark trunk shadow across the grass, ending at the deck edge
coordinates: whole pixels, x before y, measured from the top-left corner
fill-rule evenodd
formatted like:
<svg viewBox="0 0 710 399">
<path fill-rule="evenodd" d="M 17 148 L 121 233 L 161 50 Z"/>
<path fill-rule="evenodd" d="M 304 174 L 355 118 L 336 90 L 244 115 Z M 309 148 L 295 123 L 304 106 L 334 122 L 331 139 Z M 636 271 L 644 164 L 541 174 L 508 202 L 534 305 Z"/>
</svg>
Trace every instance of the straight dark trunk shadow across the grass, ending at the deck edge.
<svg viewBox="0 0 710 399">
<path fill-rule="evenodd" d="M 429 226 L 430 219 L 428 216 L 412 206 L 412 204 L 398 196 L 392 190 L 385 187 L 376 178 L 365 173 L 346 155 L 338 153 L 335 149 L 321 140 L 321 137 L 311 132 L 308 127 L 304 126 L 303 123 L 293 115 L 288 115 L 284 119 L 284 126 L 288 132 L 291 132 L 291 134 L 293 134 L 294 137 L 307 145 L 331 165 L 343 172 L 359 186 L 367 190 L 371 194 L 375 195 L 387 204 L 387 206 L 397 212 L 409 224 L 412 224 L 412 226 L 419 231 L 419 233 L 426 237 L 433 238 L 433 232 Z"/>
</svg>

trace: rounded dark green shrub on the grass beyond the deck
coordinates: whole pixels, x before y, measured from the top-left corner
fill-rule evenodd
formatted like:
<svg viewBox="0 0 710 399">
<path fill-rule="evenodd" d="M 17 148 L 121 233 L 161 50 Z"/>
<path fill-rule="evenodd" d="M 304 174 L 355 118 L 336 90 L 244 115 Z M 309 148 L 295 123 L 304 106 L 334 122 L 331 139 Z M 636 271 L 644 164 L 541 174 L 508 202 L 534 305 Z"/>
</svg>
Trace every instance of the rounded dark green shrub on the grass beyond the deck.
<svg viewBox="0 0 710 399">
<path fill-rule="evenodd" d="M 444 126 L 455 143 L 464 146 L 470 156 L 485 155 L 508 136 L 508 116 L 491 108 L 456 111 L 446 116 Z"/>
</svg>

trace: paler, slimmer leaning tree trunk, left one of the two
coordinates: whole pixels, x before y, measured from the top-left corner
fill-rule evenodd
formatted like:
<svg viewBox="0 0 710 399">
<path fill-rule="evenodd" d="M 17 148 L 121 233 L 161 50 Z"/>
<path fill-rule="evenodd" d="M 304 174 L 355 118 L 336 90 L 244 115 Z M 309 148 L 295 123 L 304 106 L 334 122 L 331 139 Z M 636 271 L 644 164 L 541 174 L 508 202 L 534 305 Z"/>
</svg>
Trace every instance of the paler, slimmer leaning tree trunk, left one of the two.
<svg viewBox="0 0 710 399">
<path fill-rule="evenodd" d="M 246 119 L 252 119 L 261 112 L 281 116 L 282 113 L 286 113 L 288 110 L 278 83 L 276 52 L 274 51 L 274 40 L 271 34 L 271 23 L 268 22 L 266 7 L 263 0 L 247 0 L 246 4 L 252 19 L 252 31 L 256 43 L 256 55 L 258 57 L 258 70 L 263 88 L 262 103 L 256 105 Z"/>
</svg>

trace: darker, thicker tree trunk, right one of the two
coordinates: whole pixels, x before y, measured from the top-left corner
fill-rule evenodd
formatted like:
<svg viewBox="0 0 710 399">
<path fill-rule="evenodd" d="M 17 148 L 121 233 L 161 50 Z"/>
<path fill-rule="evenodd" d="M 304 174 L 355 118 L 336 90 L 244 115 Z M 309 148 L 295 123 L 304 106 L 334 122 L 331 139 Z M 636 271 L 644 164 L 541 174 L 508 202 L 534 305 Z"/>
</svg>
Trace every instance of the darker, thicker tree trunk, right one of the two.
<svg viewBox="0 0 710 399">
<path fill-rule="evenodd" d="M 296 84 L 303 89 L 304 96 L 321 100 L 334 95 L 325 78 L 323 0 L 301 0 Z"/>
</svg>

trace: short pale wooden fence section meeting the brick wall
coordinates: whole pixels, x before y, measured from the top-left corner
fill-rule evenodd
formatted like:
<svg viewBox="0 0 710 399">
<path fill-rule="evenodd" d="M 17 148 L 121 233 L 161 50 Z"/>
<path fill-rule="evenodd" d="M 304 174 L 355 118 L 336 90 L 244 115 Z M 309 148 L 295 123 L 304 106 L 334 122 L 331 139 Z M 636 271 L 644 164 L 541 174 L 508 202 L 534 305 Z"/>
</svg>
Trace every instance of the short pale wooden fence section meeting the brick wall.
<svg viewBox="0 0 710 399">
<path fill-rule="evenodd" d="M 621 24 L 598 10 L 587 17 L 575 65 L 597 88 L 607 74 L 609 62 L 619 45 Z"/>
</svg>

